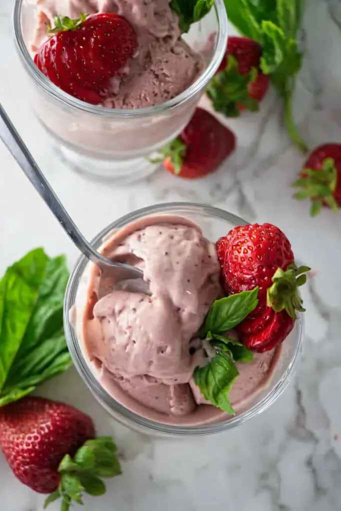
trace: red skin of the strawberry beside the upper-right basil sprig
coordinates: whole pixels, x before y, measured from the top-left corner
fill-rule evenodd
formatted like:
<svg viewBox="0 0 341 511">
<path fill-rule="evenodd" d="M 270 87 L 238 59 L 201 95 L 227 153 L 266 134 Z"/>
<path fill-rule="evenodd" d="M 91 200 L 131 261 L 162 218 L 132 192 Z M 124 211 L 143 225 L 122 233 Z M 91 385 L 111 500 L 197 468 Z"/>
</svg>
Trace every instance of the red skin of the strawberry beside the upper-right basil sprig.
<svg viewBox="0 0 341 511">
<path fill-rule="evenodd" d="M 261 45 L 249 39 L 248 37 L 230 36 L 226 45 L 226 52 L 224 58 L 218 67 L 217 73 L 224 71 L 228 56 L 232 55 L 238 62 L 238 71 L 241 75 L 246 75 L 253 67 L 258 69 L 258 75 L 255 82 L 248 85 L 247 90 L 249 97 L 261 102 L 269 88 L 269 77 L 263 75 L 259 69 L 260 58 L 263 50 Z M 239 110 L 244 110 L 243 105 L 238 105 Z"/>
</svg>

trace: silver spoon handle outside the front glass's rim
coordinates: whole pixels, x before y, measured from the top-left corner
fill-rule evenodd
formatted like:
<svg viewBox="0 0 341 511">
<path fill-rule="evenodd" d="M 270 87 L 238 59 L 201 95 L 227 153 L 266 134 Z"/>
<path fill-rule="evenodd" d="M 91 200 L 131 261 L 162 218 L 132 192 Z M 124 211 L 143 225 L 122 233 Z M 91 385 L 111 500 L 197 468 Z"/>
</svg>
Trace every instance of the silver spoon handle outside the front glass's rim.
<svg viewBox="0 0 341 511">
<path fill-rule="evenodd" d="M 98 263 L 99 260 L 102 260 L 102 255 L 97 252 L 80 233 L 76 224 L 52 190 L 49 182 L 40 171 L 33 156 L 22 141 L 1 104 L 0 117 L 0 138 L 2 138 L 4 144 L 79 250 L 83 252 L 89 260 Z M 103 260 L 102 262 L 105 264 L 105 258 L 103 258 Z"/>
</svg>

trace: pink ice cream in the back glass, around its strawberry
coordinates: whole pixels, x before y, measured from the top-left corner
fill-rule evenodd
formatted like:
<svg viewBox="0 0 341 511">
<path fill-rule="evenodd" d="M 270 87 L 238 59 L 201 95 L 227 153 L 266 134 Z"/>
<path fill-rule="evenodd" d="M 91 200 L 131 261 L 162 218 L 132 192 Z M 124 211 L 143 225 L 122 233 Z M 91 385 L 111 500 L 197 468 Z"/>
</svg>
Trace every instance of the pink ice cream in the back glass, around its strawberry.
<svg viewBox="0 0 341 511">
<path fill-rule="evenodd" d="M 32 51 L 47 39 L 55 16 L 79 18 L 82 13 L 123 16 L 138 37 L 138 51 L 111 80 L 103 96 L 109 108 L 158 105 L 186 90 L 205 66 L 181 37 L 178 17 L 169 0 L 37 0 L 39 12 Z"/>
</svg>

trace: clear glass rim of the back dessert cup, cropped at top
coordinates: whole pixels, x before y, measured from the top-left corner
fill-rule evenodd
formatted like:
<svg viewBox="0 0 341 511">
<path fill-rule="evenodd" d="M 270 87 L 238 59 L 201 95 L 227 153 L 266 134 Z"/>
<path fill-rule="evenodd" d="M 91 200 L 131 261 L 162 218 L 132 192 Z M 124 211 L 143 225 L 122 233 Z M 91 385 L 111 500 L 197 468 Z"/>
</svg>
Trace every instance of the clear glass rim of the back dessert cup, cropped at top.
<svg viewBox="0 0 341 511">
<path fill-rule="evenodd" d="M 15 0 L 14 8 L 12 13 L 12 31 L 14 34 L 14 42 L 19 58 L 26 69 L 28 75 L 33 79 L 35 84 L 47 92 L 48 95 L 54 99 L 61 101 L 63 104 L 82 110 L 95 115 L 104 115 L 108 118 L 115 119 L 130 119 L 130 118 L 141 118 L 148 115 L 162 113 L 171 108 L 177 107 L 183 104 L 185 101 L 195 96 L 209 80 L 214 76 L 217 71 L 226 49 L 226 40 L 228 38 L 228 17 L 226 15 L 226 9 L 223 0 L 215 0 L 214 9 L 218 19 L 218 39 L 216 42 L 216 48 L 213 58 L 208 67 L 199 76 L 199 78 L 186 90 L 181 92 L 175 98 L 172 98 L 160 105 L 148 106 L 144 108 L 136 109 L 117 109 L 117 108 L 106 108 L 98 105 L 90 105 L 84 101 L 78 100 L 73 96 L 67 94 L 62 89 L 52 83 L 46 76 L 44 76 L 37 66 L 34 64 L 31 58 L 24 37 L 22 36 L 21 30 L 21 8 L 25 0 Z"/>
</svg>

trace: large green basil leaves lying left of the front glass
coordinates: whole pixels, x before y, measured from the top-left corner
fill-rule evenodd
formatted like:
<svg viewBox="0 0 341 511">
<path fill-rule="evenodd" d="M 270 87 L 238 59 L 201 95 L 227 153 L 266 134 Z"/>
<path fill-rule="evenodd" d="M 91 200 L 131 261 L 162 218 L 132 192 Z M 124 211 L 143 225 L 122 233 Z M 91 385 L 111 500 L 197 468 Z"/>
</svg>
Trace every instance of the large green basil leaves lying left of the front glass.
<svg viewBox="0 0 341 511">
<path fill-rule="evenodd" d="M 0 289 L 8 275 L 15 280 L 11 287 L 6 285 L 6 293 L 0 293 L 0 314 L 10 307 L 16 325 L 22 321 L 22 328 L 20 338 L 7 330 L 5 342 L 0 342 L 0 375 L 5 374 L 1 360 L 8 355 L 7 340 L 13 350 L 0 386 L 0 406 L 20 399 L 72 365 L 63 331 L 63 299 L 69 278 L 65 257 L 50 259 L 36 249 L 7 270 Z M 29 295 L 31 300 L 23 310 L 20 298 Z"/>
</svg>

